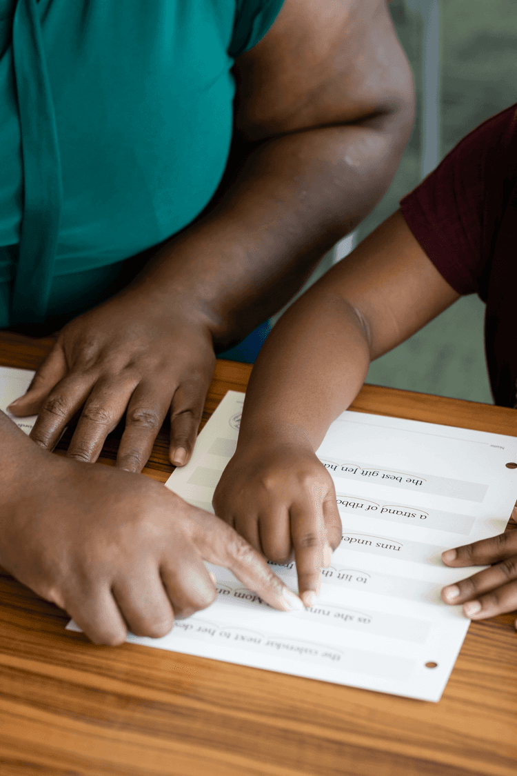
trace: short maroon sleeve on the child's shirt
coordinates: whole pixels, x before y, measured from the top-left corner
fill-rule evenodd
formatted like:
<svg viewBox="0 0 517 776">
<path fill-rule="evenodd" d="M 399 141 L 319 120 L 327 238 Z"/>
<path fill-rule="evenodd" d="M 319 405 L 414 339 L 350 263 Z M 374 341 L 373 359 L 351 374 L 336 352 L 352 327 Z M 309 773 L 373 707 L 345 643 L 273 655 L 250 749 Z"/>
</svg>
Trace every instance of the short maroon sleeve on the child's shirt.
<svg viewBox="0 0 517 776">
<path fill-rule="evenodd" d="M 517 106 L 478 126 L 401 200 L 412 234 L 457 293 L 486 300 L 490 245 L 500 217 L 501 195 L 515 167 Z M 504 152 L 503 152 L 504 151 Z"/>
</svg>

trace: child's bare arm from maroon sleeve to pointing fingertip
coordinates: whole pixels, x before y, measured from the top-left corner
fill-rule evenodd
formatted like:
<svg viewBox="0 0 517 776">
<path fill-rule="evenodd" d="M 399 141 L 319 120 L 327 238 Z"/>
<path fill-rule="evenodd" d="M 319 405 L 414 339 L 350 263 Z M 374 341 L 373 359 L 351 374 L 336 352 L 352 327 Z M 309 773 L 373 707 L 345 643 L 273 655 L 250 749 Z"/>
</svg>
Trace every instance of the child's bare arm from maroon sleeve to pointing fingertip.
<svg viewBox="0 0 517 776">
<path fill-rule="evenodd" d="M 260 352 L 214 507 L 269 559 L 285 563 L 294 549 L 306 605 L 341 538 L 333 483 L 315 450 L 371 360 L 458 296 L 397 212 L 284 314 Z"/>
</svg>

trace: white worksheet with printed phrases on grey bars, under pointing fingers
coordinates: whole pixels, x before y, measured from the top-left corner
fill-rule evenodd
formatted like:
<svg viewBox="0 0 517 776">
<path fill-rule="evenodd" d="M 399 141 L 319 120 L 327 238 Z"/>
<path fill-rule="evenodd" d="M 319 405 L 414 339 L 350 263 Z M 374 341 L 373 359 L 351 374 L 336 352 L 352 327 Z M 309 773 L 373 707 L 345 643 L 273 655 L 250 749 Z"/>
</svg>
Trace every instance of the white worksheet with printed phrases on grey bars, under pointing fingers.
<svg viewBox="0 0 517 776">
<path fill-rule="evenodd" d="M 207 511 L 236 448 L 243 398 L 226 393 L 191 461 L 167 480 Z M 333 476 L 343 540 L 312 608 L 275 611 L 207 564 L 218 591 L 208 609 L 163 639 L 129 641 L 436 702 L 469 625 L 439 591 L 474 572 L 446 568 L 440 554 L 504 530 L 517 496 L 517 469 L 505 464 L 517 460 L 517 439 L 349 411 L 317 455 Z M 294 563 L 271 566 L 297 590 Z"/>
</svg>

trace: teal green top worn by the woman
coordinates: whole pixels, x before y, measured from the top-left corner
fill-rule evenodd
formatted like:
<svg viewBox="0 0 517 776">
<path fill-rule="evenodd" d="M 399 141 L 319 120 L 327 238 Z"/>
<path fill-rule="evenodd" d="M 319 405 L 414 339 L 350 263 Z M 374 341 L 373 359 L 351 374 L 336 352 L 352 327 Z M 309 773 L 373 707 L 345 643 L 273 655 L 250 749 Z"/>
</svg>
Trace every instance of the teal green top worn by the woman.
<svg viewBox="0 0 517 776">
<path fill-rule="evenodd" d="M 0 327 L 104 300 L 203 210 L 282 2 L 0 0 Z"/>
</svg>

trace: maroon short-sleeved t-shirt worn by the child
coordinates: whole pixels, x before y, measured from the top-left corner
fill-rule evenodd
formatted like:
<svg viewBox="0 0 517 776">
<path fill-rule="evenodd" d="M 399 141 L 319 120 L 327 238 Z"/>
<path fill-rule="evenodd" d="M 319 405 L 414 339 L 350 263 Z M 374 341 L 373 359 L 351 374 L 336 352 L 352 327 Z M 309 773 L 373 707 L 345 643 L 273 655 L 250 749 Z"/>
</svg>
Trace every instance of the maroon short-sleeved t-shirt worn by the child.
<svg viewBox="0 0 517 776">
<path fill-rule="evenodd" d="M 515 407 L 517 380 L 517 105 L 464 137 L 402 213 L 460 294 L 486 303 L 485 349 L 496 404 Z"/>
</svg>

